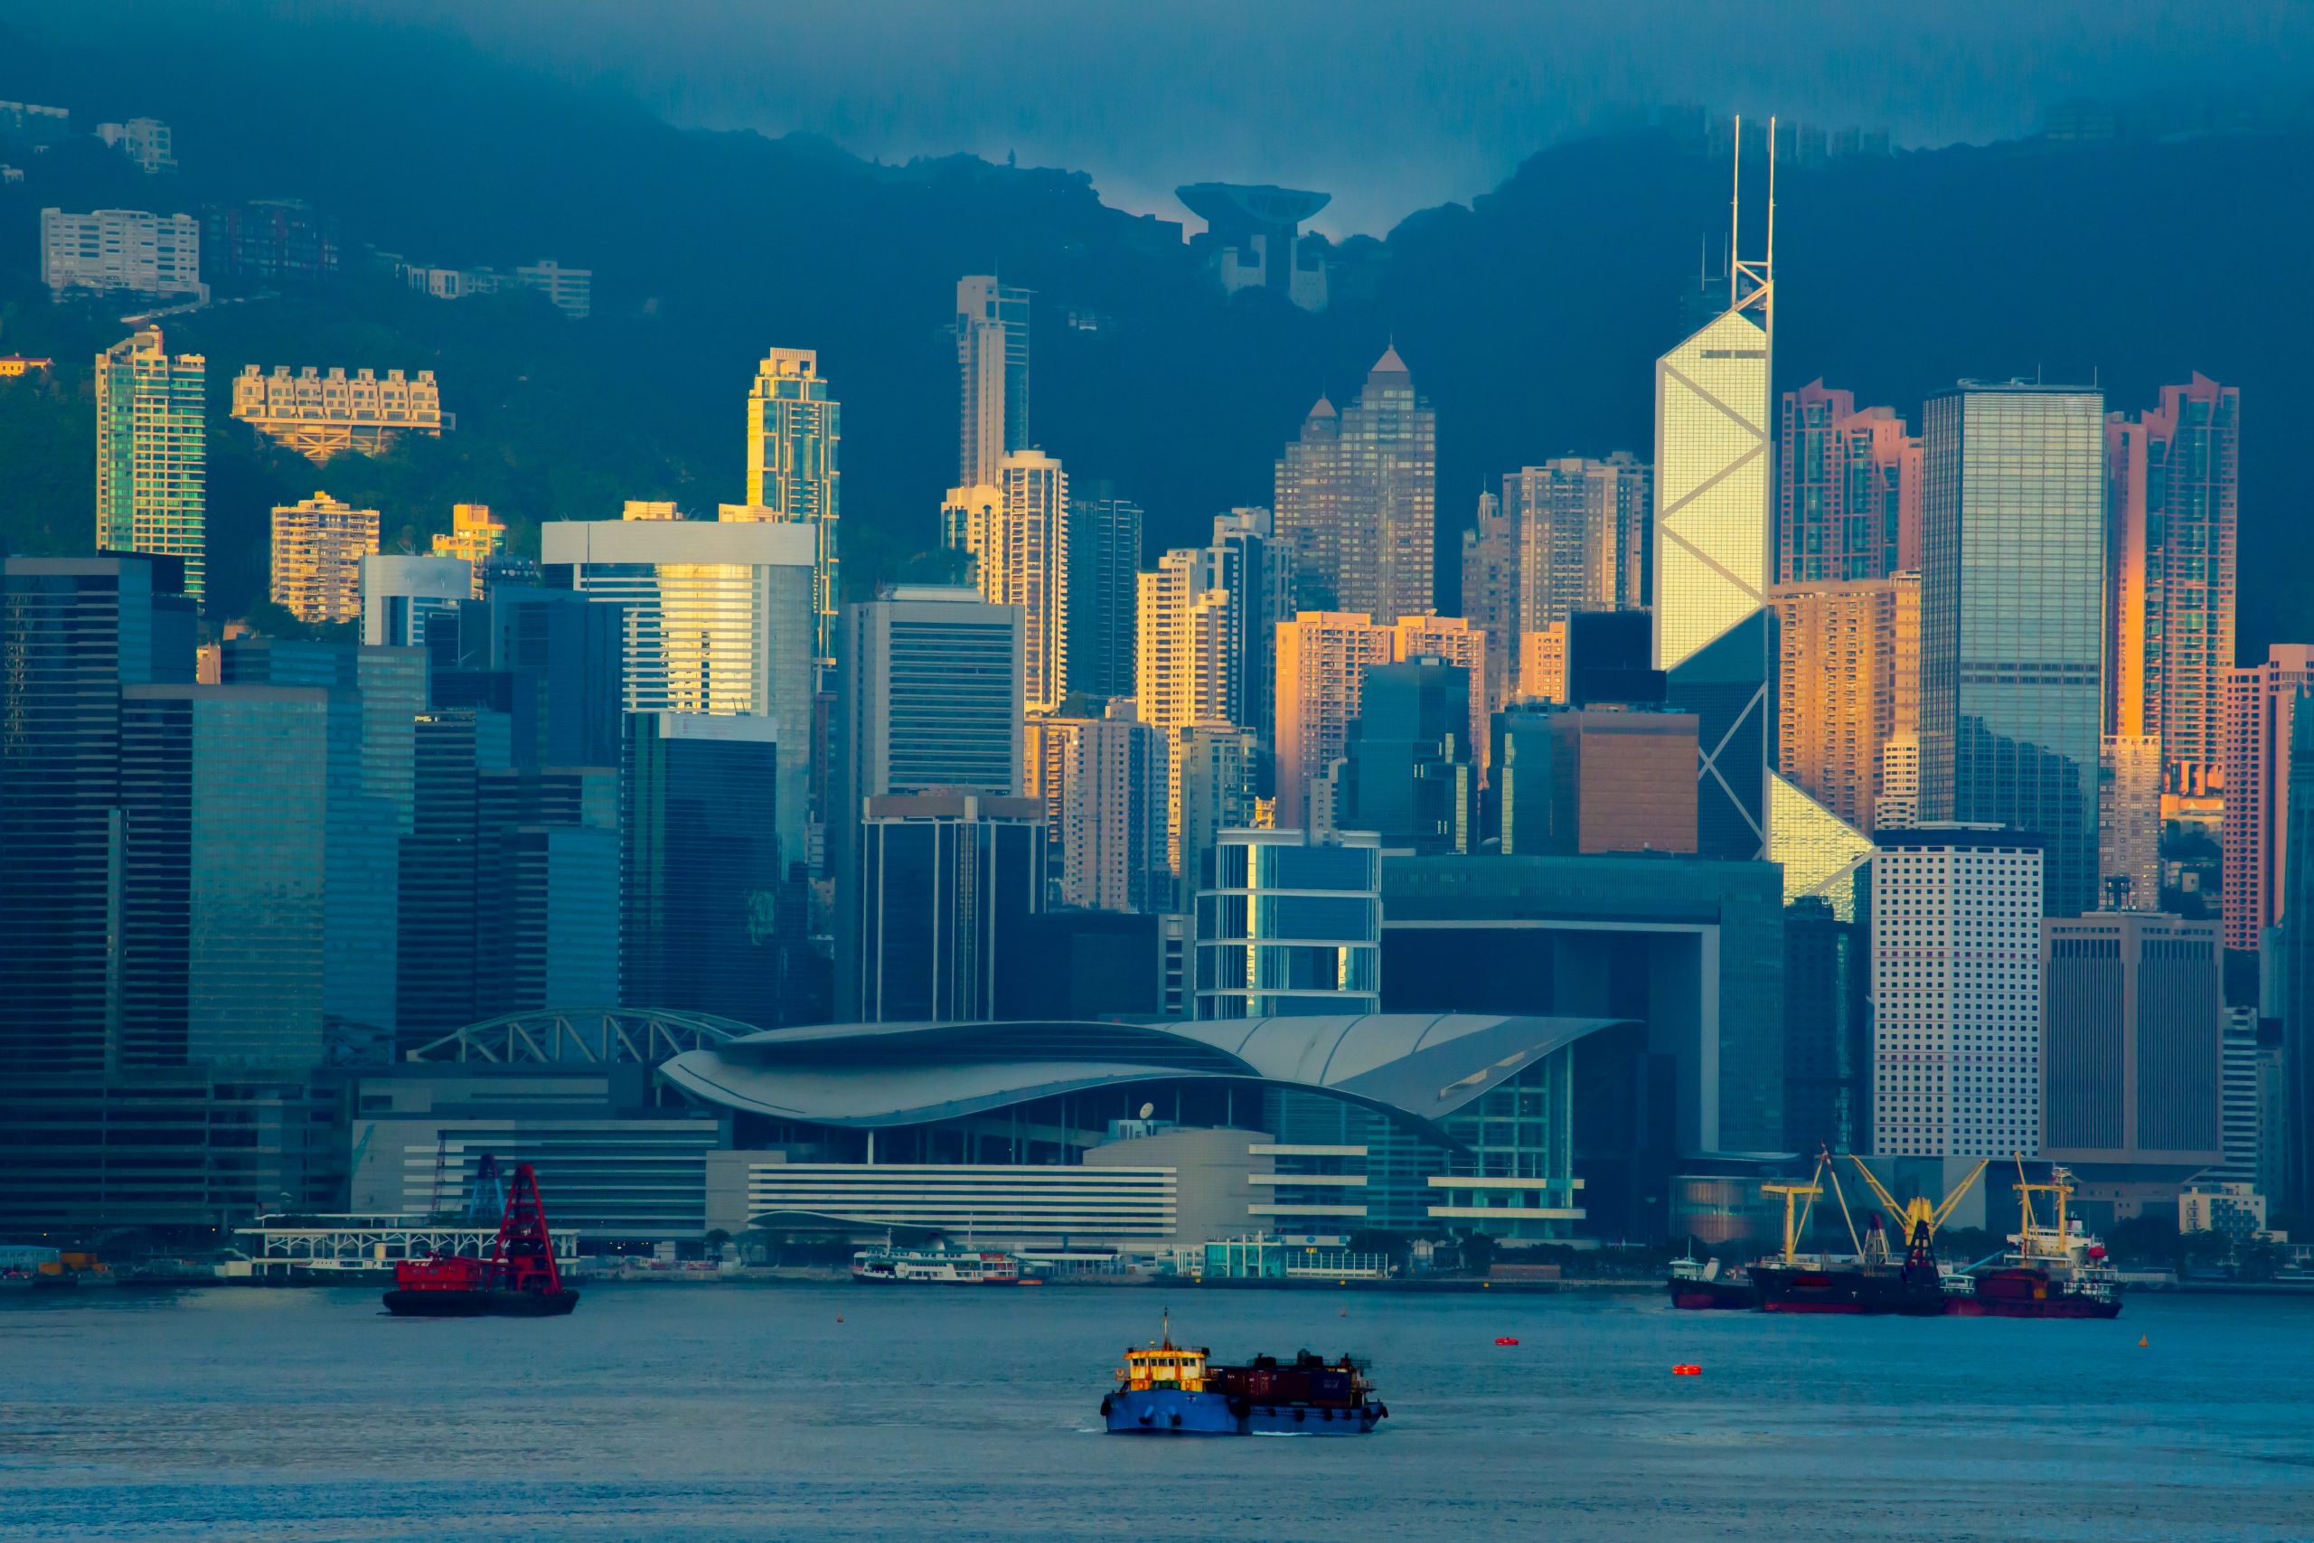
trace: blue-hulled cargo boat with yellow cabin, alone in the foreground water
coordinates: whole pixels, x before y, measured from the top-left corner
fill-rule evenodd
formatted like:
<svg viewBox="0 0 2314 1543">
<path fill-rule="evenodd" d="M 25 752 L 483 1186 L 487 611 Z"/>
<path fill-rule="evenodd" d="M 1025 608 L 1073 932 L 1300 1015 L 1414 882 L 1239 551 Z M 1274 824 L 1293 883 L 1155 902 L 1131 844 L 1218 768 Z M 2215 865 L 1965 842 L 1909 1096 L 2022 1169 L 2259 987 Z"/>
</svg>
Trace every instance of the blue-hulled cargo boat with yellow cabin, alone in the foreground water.
<svg viewBox="0 0 2314 1543">
<path fill-rule="evenodd" d="M 1363 1437 L 1391 1416 L 1372 1390 L 1365 1365 L 1349 1356 L 1213 1365 L 1213 1351 L 1173 1344 L 1166 1314 L 1159 1339 L 1127 1346 L 1101 1418 L 1118 1437 Z"/>
</svg>

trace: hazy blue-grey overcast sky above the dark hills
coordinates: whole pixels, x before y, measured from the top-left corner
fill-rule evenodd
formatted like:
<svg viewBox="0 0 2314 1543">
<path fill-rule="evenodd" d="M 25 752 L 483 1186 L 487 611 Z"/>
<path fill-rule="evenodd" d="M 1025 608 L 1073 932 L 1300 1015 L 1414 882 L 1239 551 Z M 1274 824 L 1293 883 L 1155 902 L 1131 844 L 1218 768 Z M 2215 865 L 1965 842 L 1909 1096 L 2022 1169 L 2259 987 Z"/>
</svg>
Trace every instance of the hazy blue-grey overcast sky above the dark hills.
<svg viewBox="0 0 2314 1543">
<path fill-rule="evenodd" d="M 130 0 L 134 2 L 134 0 Z M 1335 194 L 1384 231 L 1617 109 L 1777 111 L 1900 143 L 2029 132 L 2066 97 L 2314 81 L 2305 0 L 169 0 L 174 21 L 359 14 L 622 86 L 706 127 L 858 155 L 1092 171 L 1178 217 L 1185 180 Z M 0 0 L 79 16 L 113 0 Z M 102 25 L 102 23 L 100 23 Z M 2295 83 L 2295 86 L 2293 86 Z"/>
</svg>

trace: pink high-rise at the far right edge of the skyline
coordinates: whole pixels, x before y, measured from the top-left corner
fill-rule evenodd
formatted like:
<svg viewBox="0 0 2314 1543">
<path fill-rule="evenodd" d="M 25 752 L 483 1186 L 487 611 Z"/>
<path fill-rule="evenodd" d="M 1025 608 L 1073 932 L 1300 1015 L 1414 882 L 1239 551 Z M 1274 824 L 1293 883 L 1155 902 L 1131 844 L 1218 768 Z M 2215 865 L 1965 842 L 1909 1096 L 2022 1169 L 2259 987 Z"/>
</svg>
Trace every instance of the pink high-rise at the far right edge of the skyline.
<svg viewBox="0 0 2314 1543">
<path fill-rule="evenodd" d="M 2221 916 L 2228 948 L 2256 948 L 2286 895 L 2282 865 L 2291 835 L 2291 736 L 2305 692 L 2314 687 L 2314 645 L 2275 643 L 2265 664 L 2224 673 L 2226 819 L 2221 847 Z"/>
</svg>

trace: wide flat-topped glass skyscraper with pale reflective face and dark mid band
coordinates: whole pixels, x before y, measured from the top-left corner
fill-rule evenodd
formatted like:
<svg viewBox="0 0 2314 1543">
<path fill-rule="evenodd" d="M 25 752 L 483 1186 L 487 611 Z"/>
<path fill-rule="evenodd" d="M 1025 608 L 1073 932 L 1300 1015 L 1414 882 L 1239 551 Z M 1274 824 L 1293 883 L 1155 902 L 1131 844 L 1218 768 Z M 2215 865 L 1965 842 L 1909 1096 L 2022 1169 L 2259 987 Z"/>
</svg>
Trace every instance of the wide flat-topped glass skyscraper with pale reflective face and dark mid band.
<svg viewBox="0 0 2314 1543">
<path fill-rule="evenodd" d="M 1921 817 L 2046 837 L 2046 907 L 2096 905 L 2106 403 L 1962 382 L 1928 400 Z"/>
</svg>

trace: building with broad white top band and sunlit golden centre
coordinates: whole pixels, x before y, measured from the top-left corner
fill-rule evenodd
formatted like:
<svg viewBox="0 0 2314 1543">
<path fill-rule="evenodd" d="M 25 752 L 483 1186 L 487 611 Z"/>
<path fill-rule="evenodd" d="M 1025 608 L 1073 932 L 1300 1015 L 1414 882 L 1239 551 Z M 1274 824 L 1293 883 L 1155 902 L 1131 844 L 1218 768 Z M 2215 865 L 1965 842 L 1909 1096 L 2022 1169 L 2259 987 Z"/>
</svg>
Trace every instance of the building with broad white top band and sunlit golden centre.
<svg viewBox="0 0 2314 1543">
<path fill-rule="evenodd" d="M 780 849 L 810 849 L 812 583 L 798 523 L 560 521 L 539 527 L 546 588 L 625 608 L 629 713 L 768 717 L 780 745 Z"/>
</svg>

